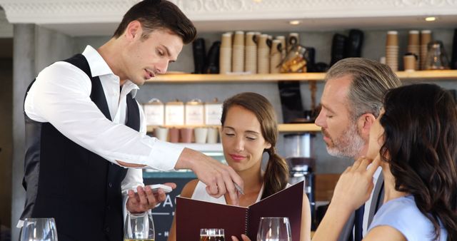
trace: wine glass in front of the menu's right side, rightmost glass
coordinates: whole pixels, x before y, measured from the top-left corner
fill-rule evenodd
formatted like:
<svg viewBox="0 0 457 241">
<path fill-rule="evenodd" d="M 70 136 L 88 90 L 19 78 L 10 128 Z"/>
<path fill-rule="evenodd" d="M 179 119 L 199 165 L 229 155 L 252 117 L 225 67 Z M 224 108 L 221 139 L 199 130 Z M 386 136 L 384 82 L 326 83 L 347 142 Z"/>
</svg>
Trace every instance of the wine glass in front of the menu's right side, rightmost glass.
<svg viewBox="0 0 457 241">
<path fill-rule="evenodd" d="M 261 217 L 257 241 L 291 241 L 291 225 L 287 217 Z"/>
</svg>

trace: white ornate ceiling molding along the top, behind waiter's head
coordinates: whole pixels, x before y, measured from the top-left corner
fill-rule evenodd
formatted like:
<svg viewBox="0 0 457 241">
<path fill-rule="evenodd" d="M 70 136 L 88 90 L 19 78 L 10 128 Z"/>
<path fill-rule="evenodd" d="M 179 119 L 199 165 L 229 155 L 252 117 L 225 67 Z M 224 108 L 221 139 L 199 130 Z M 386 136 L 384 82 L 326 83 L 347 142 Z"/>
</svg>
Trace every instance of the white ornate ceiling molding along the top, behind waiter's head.
<svg viewBox="0 0 457 241">
<path fill-rule="evenodd" d="M 38 24 L 70 36 L 111 35 L 141 0 L 0 0 L 11 24 Z M 457 0 L 170 0 L 199 32 L 256 29 L 454 27 Z M 260 1 L 260 2 L 258 2 Z M 424 24 L 421 16 L 439 21 Z M 291 26 L 288 20 L 301 20 Z M 11 25 L 10 24 L 10 25 Z M 0 23 L 0 31 L 1 31 Z"/>
</svg>

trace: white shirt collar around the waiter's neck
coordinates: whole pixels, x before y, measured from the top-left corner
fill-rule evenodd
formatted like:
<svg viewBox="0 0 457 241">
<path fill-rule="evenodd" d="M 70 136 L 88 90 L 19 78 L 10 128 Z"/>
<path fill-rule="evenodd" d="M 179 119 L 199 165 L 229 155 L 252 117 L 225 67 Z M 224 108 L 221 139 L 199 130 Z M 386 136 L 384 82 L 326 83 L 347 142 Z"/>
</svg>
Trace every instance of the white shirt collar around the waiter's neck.
<svg viewBox="0 0 457 241">
<path fill-rule="evenodd" d="M 87 62 L 89 63 L 92 77 L 104 76 L 109 74 L 116 76 L 111 70 L 111 68 L 109 68 L 108 63 L 106 63 L 104 58 L 100 55 L 98 51 L 96 51 L 94 47 L 90 45 L 86 46 L 82 54 L 84 55 L 84 57 L 86 57 Z M 119 76 L 117 77 L 119 79 Z M 124 83 L 124 89 L 126 89 L 127 93 L 131 92 L 131 95 L 135 97 L 136 91 L 139 90 L 139 86 L 127 80 L 126 83 Z"/>
</svg>

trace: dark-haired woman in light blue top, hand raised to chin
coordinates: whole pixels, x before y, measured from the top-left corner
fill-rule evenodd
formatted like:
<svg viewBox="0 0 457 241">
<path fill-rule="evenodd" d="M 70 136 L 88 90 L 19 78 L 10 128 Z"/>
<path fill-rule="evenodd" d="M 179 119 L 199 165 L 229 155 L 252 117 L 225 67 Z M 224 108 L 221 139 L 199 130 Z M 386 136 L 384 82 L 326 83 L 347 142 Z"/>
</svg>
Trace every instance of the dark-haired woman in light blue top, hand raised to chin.
<svg viewBox="0 0 457 241">
<path fill-rule="evenodd" d="M 432 84 L 391 89 L 366 157 L 341 175 L 313 241 L 333 240 L 341 217 L 368 200 L 378 166 L 383 205 L 363 240 L 457 240 L 456 160 L 457 109 L 448 91 Z"/>
</svg>

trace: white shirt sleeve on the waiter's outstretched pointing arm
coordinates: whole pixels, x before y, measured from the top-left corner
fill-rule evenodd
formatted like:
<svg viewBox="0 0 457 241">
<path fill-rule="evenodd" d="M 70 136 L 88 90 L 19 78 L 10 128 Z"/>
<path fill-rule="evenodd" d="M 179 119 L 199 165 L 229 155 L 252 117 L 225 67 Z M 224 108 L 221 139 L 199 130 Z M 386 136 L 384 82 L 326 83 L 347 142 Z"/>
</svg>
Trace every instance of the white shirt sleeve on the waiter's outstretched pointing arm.
<svg viewBox="0 0 457 241">
<path fill-rule="evenodd" d="M 32 120 L 51 123 L 67 138 L 111 163 L 119 165 L 116 160 L 120 160 L 174 170 L 183 147 L 149 137 L 144 124 L 136 131 L 112 122 L 91 101 L 90 93 L 86 73 L 70 63 L 56 62 L 39 73 L 24 109 Z"/>
</svg>

